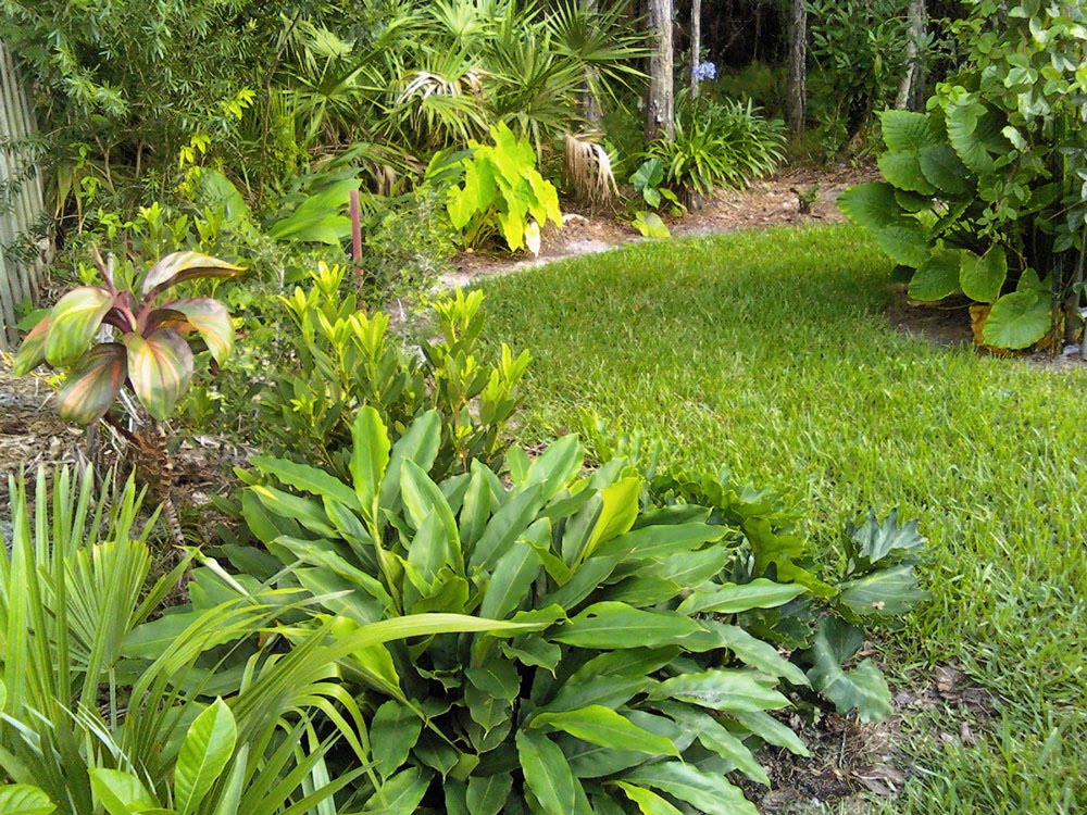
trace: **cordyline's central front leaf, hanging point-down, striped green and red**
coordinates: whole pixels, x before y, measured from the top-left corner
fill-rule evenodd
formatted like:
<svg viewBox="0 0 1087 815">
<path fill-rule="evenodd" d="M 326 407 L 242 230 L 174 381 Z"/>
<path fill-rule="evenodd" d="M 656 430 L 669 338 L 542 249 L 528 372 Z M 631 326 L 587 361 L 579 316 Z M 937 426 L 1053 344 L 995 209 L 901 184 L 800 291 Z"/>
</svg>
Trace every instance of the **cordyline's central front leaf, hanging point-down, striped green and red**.
<svg viewBox="0 0 1087 815">
<path fill-rule="evenodd" d="M 164 422 L 192 379 L 192 350 L 173 328 L 160 328 L 143 338 L 126 334 L 128 378 L 147 412 Z"/>
</svg>

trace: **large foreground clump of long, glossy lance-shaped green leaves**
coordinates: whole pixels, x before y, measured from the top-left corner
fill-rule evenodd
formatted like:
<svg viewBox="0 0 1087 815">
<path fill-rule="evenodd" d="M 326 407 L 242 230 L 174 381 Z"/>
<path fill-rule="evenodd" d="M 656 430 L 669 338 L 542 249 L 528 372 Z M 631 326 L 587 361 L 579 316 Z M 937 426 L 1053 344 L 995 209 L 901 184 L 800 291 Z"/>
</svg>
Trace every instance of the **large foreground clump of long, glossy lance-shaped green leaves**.
<svg viewBox="0 0 1087 815">
<path fill-rule="evenodd" d="M 539 625 L 508 641 L 440 637 L 345 661 L 386 700 L 368 703 L 372 760 L 383 786 L 410 789 L 403 812 L 667 802 L 753 814 L 726 774 L 767 783 L 752 753 L 762 741 L 805 753 L 767 711 L 809 678 L 744 622 L 791 618 L 784 610 L 809 593 L 784 567 L 784 582 L 748 579 L 740 532 L 746 522 L 769 527 L 764 506 L 749 501 L 744 518 L 682 502 L 642 507 L 646 484 L 629 462 L 585 474 L 572 436 L 534 461 L 511 451 L 507 484 L 479 462 L 432 479 L 435 412 L 395 443 L 373 409 L 352 431 L 346 482 L 266 456 L 246 476 L 250 527 L 316 602 L 360 625 L 423 611 Z M 875 561 L 878 549 L 858 557 Z M 810 676 L 842 710 L 878 717 L 878 670 L 830 664 L 859 644 L 851 629 L 821 631 Z"/>
</svg>

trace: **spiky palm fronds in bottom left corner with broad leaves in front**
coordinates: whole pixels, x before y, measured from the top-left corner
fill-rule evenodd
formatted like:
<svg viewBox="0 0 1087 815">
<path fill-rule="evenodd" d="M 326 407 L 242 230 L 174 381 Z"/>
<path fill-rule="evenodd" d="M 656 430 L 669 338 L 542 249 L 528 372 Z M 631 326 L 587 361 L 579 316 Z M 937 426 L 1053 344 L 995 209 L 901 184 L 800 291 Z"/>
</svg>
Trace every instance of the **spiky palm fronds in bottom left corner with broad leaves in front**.
<svg viewBox="0 0 1087 815">
<path fill-rule="evenodd" d="M 137 526 L 133 481 L 96 492 L 89 471 L 60 471 L 50 485 L 42 469 L 33 509 L 28 498 L 22 479 L 9 480 L 0 778 L 14 783 L 0 787 L 5 813 L 327 811 L 366 773 L 368 755 L 361 712 L 335 681 L 339 659 L 390 639 L 533 628 L 423 615 L 352 626 L 346 637 L 332 636 L 336 619 L 299 631 L 282 622 L 309 616 L 304 598 L 251 579 L 243 589 L 209 560 L 204 569 L 222 579 L 217 595 L 196 614 L 145 623 L 177 591 L 195 553 L 150 579 L 154 518 Z M 163 620 L 179 624 L 159 636 Z M 247 650 L 227 670 L 239 647 Z M 330 774 L 339 747 L 357 761 Z"/>
</svg>

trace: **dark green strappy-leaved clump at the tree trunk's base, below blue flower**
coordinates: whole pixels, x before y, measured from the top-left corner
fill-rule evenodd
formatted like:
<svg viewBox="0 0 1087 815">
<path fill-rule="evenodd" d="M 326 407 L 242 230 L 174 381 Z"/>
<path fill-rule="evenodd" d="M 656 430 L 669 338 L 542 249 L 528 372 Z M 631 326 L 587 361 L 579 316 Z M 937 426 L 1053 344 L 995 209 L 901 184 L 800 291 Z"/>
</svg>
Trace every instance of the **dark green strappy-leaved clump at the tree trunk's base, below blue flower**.
<svg viewBox="0 0 1087 815">
<path fill-rule="evenodd" d="M 749 101 L 685 100 L 674 139 L 660 139 L 649 155 L 664 165 L 664 184 L 685 195 L 708 196 L 716 187 L 742 189 L 773 172 L 784 156 L 785 128 Z"/>
</svg>

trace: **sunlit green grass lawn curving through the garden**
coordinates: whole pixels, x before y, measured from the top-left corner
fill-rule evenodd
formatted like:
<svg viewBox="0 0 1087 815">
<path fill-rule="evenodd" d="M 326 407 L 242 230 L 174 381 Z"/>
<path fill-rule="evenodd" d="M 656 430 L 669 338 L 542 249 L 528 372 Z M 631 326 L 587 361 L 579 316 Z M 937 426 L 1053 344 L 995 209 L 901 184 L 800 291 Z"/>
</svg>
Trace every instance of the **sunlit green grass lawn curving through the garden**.
<svg viewBox="0 0 1087 815">
<path fill-rule="evenodd" d="M 920 518 L 934 597 L 888 672 L 922 682 L 952 663 L 1000 712 L 973 745 L 910 723 L 921 776 L 894 811 L 1078 811 L 1087 374 L 897 334 L 889 271 L 848 226 L 646 243 L 488 283 L 487 331 L 533 353 L 526 441 L 595 410 L 667 461 L 795 498 L 830 556 L 870 505 Z"/>
</svg>

